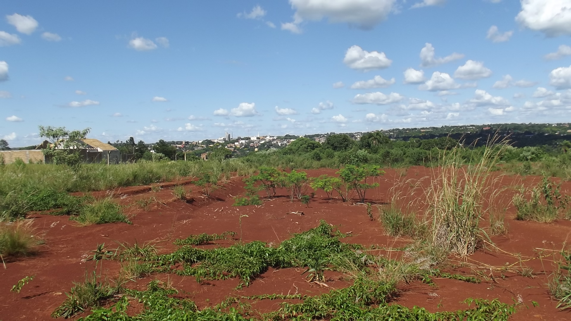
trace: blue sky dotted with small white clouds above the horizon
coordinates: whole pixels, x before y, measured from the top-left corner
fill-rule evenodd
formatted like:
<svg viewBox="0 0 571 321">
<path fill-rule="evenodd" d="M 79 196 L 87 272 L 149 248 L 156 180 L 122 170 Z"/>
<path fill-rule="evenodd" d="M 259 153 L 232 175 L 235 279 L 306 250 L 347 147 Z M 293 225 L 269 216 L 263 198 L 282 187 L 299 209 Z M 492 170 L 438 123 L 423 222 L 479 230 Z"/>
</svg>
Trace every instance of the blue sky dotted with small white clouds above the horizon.
<svg viewBox="0 0 571 321">
<path fill-rule="evenodd" d="M 571 0 L 6 1 L 0 138 L 568 122 Z"/>
</svg>

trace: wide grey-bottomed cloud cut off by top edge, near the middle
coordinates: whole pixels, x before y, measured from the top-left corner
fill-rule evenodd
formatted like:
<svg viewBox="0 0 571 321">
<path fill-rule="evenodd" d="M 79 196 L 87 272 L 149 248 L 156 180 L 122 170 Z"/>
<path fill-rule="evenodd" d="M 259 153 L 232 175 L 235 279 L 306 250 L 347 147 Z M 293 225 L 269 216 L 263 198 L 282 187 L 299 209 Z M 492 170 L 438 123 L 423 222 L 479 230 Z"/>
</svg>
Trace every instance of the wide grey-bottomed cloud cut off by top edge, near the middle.
<svg viewBox="0 0 571 321">
<path fill-rule="evenodd" d="M 362 29 L 371 29 L 384 21 L 396 0 L 289 0 L 297 19 L 346 22 Z"/>
</svg>

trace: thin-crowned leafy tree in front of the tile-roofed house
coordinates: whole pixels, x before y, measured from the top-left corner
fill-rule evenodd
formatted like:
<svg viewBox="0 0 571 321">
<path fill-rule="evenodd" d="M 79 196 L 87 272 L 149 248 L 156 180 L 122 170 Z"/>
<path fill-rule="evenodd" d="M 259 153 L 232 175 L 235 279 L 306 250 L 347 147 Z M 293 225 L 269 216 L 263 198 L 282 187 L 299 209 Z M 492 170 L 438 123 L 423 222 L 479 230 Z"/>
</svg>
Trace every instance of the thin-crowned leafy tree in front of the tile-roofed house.
<svg viewBox="0 0 571 321">
<path fill-rule="evenodd" d="M 82 158 L 79 149 L 85 146 L 82 139 L 87 137 L 90 128 L 69 131 L 66 127 L 38 126 L 39 135 L 50 142 L 42 152 L 50 156 L 54 164 L 65 164 L 74 170 L 81 167 Z"/>
</svg>

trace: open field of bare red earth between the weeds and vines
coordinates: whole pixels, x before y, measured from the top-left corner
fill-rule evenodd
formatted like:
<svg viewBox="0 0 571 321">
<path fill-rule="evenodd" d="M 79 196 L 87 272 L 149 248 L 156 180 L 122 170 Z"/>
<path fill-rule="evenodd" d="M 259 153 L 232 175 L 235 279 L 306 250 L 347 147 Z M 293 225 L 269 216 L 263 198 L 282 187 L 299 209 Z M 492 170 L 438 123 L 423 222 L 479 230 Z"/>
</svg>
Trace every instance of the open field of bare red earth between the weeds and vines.
<svg viewBox="0 0 571 321">
<path fill-rule="evenodd" d="M 335 170 L 309 170 L 307 173 L 308 176 L 317 177 L 322 174 L 335 175 Z M 86 275 L 95 271 L 96 275 L 101 276 L 100 280 L 108 280 L 113 284 L 112 280 L 124 275 L 124 271 L 134 270 L 124 268 L 132 263 L 127 256 L 106 256 L 103 251 L 101 258 L 104 259 L 90 260 L 94 256 L 93 251 L 103 243 L 106 250 L 112 250 L 120 248 L 120 244 L 142 246 L 151 242 L 159 254 L 168 254 L 184 247 L 173 244 L 176 239 L 202 233 L 223 234 L 232 231 L 235 234 L 227 234 L 219 240 L 207 240 L 192 247 L 212 250 L 262 241 L 276 248 L 290 239 L 292 234 L 308 231 L 319 226 L 320 220 L 325 220 L 339 228 L 342 237 L 338 239 L 342 243 L 361 244 L 365 254 L 376 258 L 375 264 L 382 260 L 385 263 L 386 260 L 394 260 L 419 265 L 421 256 L 412 254 L 414 250 L 411 246 L 415 242 L 406 236 L 386 235 L 377 208 L 388 206 L 393 200 L 392 195 L 398 194 L 399 190 L 410 195 L 412 182 L 427 184 L 428 178 L 436 174 L 430 168 L 410 167 L 408 170 L 387 170 L 386 174 L 375 178 L 379 186 L 368 191 L 365 199 L 365 202 L 372 204 L 373 220 L 369 218 L 365 204 L 341 202 L 339 199 L 329 200 L 322 190 L 316 191 L 307 205 L 297 199 L 291 202 L 289 191 L 278 188 L 273 198 L 263 199 L 262 205 L 232 206 L 234 196 L 244 194 L 244 184 L 240 178 L 228 180 L 222 184 L 222 188 L 212 192 L 210 198 L 204 196 L 200 188 L 192 184 L 191 179 L 178 181 L 179 185 L 192 190 L 184 200 L 175 195 L 172 189 L 174 183 L 165 183 L 162 187 L 159 184 L 94 192 L 95 198 L 111 196 L 124 206 L 124 213 L 131 224 L 85 226 L 69 220 L 68 216 L 39 213 L 28 215 L 33 234 L 43 242 L 35 246 L 37 252 L 34 255 L 5 258 L 6 269 L 2 268 L 0 278 L 1 319 L 49 320 L 52 312 L 66 300 L 66 292 L 70 291 L 73 282 L 85 282 Z M 499 172 L 493 172 L 492 175 L 499 179 L 501 186 L 506 187 L 521 184 L 533 186 L 540 182 L 537 176 L 500 176 Z M 562 194 L 569 195 L 571 182 L 564 182 L 560 188 Z M 260 192 L 260 196 L 263 194 Z M 467 310 L 471 307 L 463 301 L 468 298 L 490 301 L 498 298 L 502 303 L 513 304 L 515 313 L 510 319 L 570 318 L 570 312 L 560 311 L 556 307 L 557 300 L 549 295 L 547 283 L 549 279 L 553 279 L 554 272 L 558 272 L 553 260 L 560 259 L 557 254 L 565 248 L 571 232 L 571 222 L 564 219 L 552 223 L 515 220 L 516 210 L 510 202 L 513 194 L 512 189 L 502 190 L 494 199 L 496 207 L 505 210 L 507 227 L 506 234 L 490 236 L 490 243 L 496 244 L 497 248 L 478 247 L 475 254 L 465 258 L 448 255 L 448 259 L 432 266 L 433 269 L 439 268 L 440 272 L 416 271 L 412 272 L 410 278 L 392 278 L 391 280 L 397 281 L 396 289 L 387 296 L 387 303 L 373 302 L 370 308 L 378 309 L 387 304 L 403 308 L 417 306 L 435 313 Z M 417 216 L 422 216 L 422 209 L 419 205 Z M 355 249 L 351 251 L 360 252 Z M 99 251 L 99 254 L 102 254 L 102 251 Z M 204 262 L 194 263 L 190 267 L 196 268 L 201 264 L 207 265 Z M 197 276 L 192 275 L 192 271 L 183 275 L 181 271 L 186 268 L 184 264 L 173 262 L 172 266 L 167 264 L 167 270 L 158 271 L 157 268 L 160 270 L 164 266 L 155 266 L 155 270 L 148 271 L 150 274 L 143 271 L 137 275 L 142 278 L 132 275 L 124 278 L 123 287 L 143 291 L 152 280 L 160 280 L 163 286 L 168 285 L 178 290 L 178 294 L 168 296 L 191 300 L 201 311 L 207 311 L 209 307 L 212 311 L 218 311 L 216 308 L 220 308 L 217 313 L 230 311 L 220 306 L 227 297 L 248 297 L 240 299 L 241 304 L 232 304 L 240 315 L 246 318 L 280 319 L 283 316 L 268 313 L 278 311 L 280 307 L 284 308 L 280 305 L 282 302 L 302 302 L 302 297 L 296 295 L 317 296 L 334 289 L 353 286 L 355 271 L 351 271 L 351 266 L 340 268 L 342 265 L 331 266 L 331 269 L 324 266 L 322 279 L 308 278 L 311 272 L 303 273 L 306 268 L 299 264 L 283 268 L 263 267 L 259 275 L 255 272 L 252 274 L 249 284 L 244 284 L 243 272 L 239 276 L 222 279 L 204 274 L 197 282 Z M 214 265 L 211 267 L 215 268 Z M 383 270 L 388 271 L 388 266 L 379 268 L 377 272 Z M 477 278 L 480 283 L 460 280 L 463 278 L 459 275 Z M 11 292 L 10 288 L 25 276 L 34 278 L 24 284 L 19 293 Z M 432 282 L 423 279 L 423 276 L 428 276 Z M 130 303 L 127 315 L 138 315 L 144 307 L 134 298 L 136 295 L 130 293 L 122 292 L 122 300 Z M 284 296 L 273 300 L 252 297 L 272 294 Z M 102 304 L 108 307 L 120 297 L 121 295 L 115 296 Z M 304 300 L 307 302 L 309 299 Z M 90 314 L 91 312 L 86 311 L 74 318 Z M 211 319 L 216 318 L 213 316 Z M 286 315 L 285 319 L 294 319 L 294 315 Z M 347 319 L 351 318 L 348 316 Z"/>
</svg>

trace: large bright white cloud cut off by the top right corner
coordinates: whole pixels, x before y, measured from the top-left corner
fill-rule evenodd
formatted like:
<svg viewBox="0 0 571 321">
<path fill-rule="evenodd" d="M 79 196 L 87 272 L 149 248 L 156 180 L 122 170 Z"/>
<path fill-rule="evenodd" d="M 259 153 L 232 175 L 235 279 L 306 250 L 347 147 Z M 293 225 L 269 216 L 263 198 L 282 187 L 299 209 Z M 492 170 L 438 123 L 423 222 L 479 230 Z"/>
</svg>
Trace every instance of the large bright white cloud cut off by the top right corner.
<svg viewBox="0 0 571 321">
<path fill-rule="evenodd" d="M 521 0 L 516 21 L 549 37 L 571 34 L 571 2 L 568 0 Z"/>
</svg>

